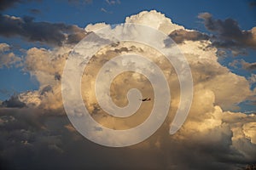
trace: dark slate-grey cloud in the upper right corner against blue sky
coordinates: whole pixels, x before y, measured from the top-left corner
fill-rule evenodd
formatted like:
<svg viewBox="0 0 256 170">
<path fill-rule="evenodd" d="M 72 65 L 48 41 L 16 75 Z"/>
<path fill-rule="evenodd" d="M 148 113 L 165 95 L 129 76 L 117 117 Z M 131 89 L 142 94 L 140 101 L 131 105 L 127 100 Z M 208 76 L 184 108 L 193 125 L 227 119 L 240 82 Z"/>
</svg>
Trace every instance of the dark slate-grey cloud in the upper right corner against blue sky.
<svg viewBox="0 0 256 170">
<path fill-rule="evenodd" d="M 211 31 L 212 44 L 218 48 L 253 48 L 256 49 L 256 28 L 242 31 L 236 20 L 215 20 L 212 14 L 201 13 L 198 17 L 204 20 L 208 31 Z"/>
</svg>

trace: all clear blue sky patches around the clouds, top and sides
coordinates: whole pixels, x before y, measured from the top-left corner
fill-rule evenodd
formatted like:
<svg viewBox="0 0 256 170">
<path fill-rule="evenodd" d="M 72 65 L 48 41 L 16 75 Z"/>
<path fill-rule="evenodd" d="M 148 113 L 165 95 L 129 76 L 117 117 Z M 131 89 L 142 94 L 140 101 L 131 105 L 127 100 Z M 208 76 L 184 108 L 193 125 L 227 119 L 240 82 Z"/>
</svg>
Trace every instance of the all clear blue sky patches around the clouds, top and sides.
<svg viewBox="0 0 256 170">
<path fill-rule="evenodd" d="M 195 29 L 207 32 L 201 20 L 197 15 L 202 12 L 208 12 L 215 19 L 224 20 L 232 18 L 241 26 L 242 30 L 249 30 L 256 25 L 256 8 L 248 5 L 243 0 L 120 0 L 120 4 L 109 5 L 105 0 L 94 0 L 92 3 L 67 3 L 67 0 L 45 0 L 41 2 L 31 2 L 17 4 L 14 8 L 3 11 L 3 14 L 14 16 L 32 16 L 30 9 L 36 8 L 41 11 L 35 14 L 35 21 L 47 21 L 52 23 L 66 23 L 78 25 L 79 27 L 87 26 L 90 23 L 106 22 L 108 24 L 119 24 L 125 22 L 125 17 L 131 14 L 137 14 L 143 10 L 155 9 L 166 17 L 171 18 L 172 22 L 185 26 L 189 29 Z M 108 13 L 102 12 L 104 8 Z M 209 32 L 208 32 L 209 33 Z M 44 47 L 45 45 L 33 42 L 25 42 L 19 37 L 3 38 L 0 42 L 7 42 L 11 46 L 19 48 Z M 19 51 L 16 54 L 21 54 Z M 246 58 L 247 62 L 255 62 L 255 52 L 251 52 Z M 228 65 L 231 58 L 224 59 L 223 65 Z M 248 76 L 250 73 L 234 69 L 236 74 Z M 15 90 L 18 92 L 37 89 L 38 82 L 32 79 L 28 74 L 24 74 L 19 68 L 0 69 L 0 89 Z M 5 94 L 1 94 L 0 99 L 7 99 Z"/>
</svg>

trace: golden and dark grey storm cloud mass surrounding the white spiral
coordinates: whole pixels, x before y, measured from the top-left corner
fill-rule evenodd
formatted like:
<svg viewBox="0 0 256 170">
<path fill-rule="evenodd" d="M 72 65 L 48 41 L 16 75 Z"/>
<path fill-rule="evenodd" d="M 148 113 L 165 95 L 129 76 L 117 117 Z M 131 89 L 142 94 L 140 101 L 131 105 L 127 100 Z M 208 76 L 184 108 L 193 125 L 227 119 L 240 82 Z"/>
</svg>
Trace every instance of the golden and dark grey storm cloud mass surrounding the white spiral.
<svg viewBox="0 0 256 170">
<path fill-rule="evenodd" d="M 91 87 L 94 87 L 97 71 L 113 56 L 132 52 L 153 59 L 166 75 L 172 93 L 166 122 L 153 136 L 133 146 L 108 148 L 85 139 L 68 121 L 61 98 L 61 75 L 72 51 L 68 44 L 78 42 L 86 35 L 85 32 L 109 25 L 91 24 L 80 29 L 77 26 L 35 22 L 31 18 L 0 17 L 2 36 L 20 36 L 28 41 L 57 45 L 52 49 L 35 47 L 26 50 L 24 70 L 37 78 L 40 88 L 21 93 L 0 107 L 2 169 L 234 170 L 255 163 L 256 115 L 232 112 L 237 109 L 237 104 L 252 98 L 255 90 L 251 89 L 245 77 L 220 65 L 216 55 L 216 47 L 220 45 L 254 48 L 254 30 L 241 31 L 234 20 L 213 20 L 211 14 L 200 14 L 207 29 L 219 37 L 212 42 L 212 37 L 207 34 L 178 26 L 154 10 L 127 17 L 126 23 L 151 26 L 177 42 L 192 71 L 194 99 L 187 121 L 177 133 L 170 135 L 170 123 L 179 101 L 179 85 L 172 65 L 156 50 L 140 43 L 119 42 L 102 48 L 91 59 L 81 84 L 90 115 L 103 126 L 116 129 L 133 127 L 143 122 L 152 108 L 152 104 L 145 103 L 138 111 L 138 115 L 143 116 L 131 116 L 128 120 L 104 115 Z M 227 27 L 232 31 L 227 32 Z M 69 36 L 63 32 L 68 32 Z M 0 47 L 2 53 L 9 54 L 8 44 L 2 43 Z M 12 59 L 16 60 L 14 57 Z M 8 62 L 5 65 L 12 64 Z M 244 66 L 247 69 L 253 67 Z M 149 85 L 145 77 L 137 73 L 119 75 L 110 88 L 113 101 L 117 105 L 127 104 L 125 92 L 131 87 L 142 89 L 143 94 L 152 94 Z"/>
</svg>

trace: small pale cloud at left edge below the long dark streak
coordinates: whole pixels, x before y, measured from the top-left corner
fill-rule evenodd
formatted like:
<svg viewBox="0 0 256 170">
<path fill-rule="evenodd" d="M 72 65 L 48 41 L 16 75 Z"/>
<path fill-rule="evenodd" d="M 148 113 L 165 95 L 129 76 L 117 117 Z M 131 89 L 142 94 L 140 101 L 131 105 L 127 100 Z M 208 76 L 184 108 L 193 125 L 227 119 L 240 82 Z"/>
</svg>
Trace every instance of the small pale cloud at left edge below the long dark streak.
<svg viewBox="0 0 256 170">
<path fill-rule="evenodd" d="M 17 57 L 13 52 L 10 52 L 10 46 L 7 43 L 0 43 L 0 69 L 3 66 L 10 67 L 18 64 L 21 59 Z"/>
</svg>

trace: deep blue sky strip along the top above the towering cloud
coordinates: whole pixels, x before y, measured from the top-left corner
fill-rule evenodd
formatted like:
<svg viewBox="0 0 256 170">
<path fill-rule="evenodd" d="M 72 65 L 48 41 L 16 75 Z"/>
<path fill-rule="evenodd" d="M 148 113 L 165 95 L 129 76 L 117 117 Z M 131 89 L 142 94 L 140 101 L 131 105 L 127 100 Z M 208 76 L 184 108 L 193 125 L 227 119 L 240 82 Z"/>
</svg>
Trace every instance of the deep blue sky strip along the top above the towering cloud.
<svg viewBox="0 0 256 170">
<path fill-rule="evenodd" d="M 32 15 L 30 9 L 39 9 L 40 14 L 36 14 L 37 21 L 64 22 L 84 27 L 90 23 L 106 22 L 109 24 L 122 23 L 126 16 L 137 14 L 143 10 L 155 9 L 177 24 L 181 24 L 190 29 L 204 30 L 197 20 L 197 15 L 202 12 L 213 14 L 218 19 L 233 18 L 239 22 L 242 29 L 252 28 L 256 22 L 255 7 L 250 7 L 247 1 L 122 1 L 109 5 L 104 0 L 96 0 L 93 3 L 67 3 L 67 1 L 42 1 L 32 3 L 21 3 L 9 8 L 3 14 L 15 16 Z M 103 12 L 104 8 L 108 13 Z"/>
</svg>

